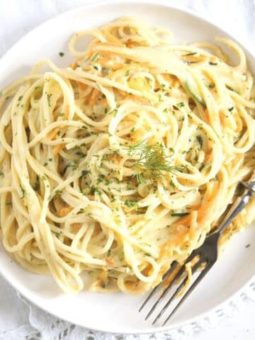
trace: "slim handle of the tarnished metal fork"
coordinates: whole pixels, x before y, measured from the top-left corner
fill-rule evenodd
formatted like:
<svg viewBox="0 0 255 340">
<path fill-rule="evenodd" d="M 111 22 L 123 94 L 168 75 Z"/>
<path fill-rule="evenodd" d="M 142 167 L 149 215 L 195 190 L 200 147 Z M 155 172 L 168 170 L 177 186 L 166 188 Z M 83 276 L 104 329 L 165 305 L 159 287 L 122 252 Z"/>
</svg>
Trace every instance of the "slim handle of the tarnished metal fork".
<svg viewBox="0 0 255 340">
<path fill-rule="evenodd" d="M 230 225 L 232 220 L 234 220 L 234 217 L 239 215 L 239 213 L 246 207 L 246 205 L 249 203 L 249 199 L 251 198 L 254 191 L 251 191 L 251 189 L 246 189 L 246 192 L 243 196 L 238 197 L 234 203 L 232 204 L 232 207 L 229 210 L 229 213 L 225 217 L 225 219 L 222 221 L 222 224 L 217 229 L 218 234 L 222 234 L 222 232 L 227 229 L 227 227 Z"/>
</svg>

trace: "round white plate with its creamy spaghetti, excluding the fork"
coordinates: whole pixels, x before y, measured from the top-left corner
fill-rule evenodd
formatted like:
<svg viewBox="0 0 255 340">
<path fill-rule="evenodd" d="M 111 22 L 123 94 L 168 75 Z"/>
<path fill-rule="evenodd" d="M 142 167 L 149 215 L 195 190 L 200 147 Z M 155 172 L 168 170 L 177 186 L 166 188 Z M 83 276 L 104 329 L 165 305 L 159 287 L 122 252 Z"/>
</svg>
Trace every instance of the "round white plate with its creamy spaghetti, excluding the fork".
<svg viewBox="0 0 255 340">
<path fill-rule="evenodd" d="M 38 26 L 0 72 L 0 273 L 24 297 L 86 328 L 149 333 L 254 276 L 251 199 L 173 321 L 138 314 L 254 171 L 255 62 L 241 43 L 158 1 L 108 2 Z"/>
</svg>

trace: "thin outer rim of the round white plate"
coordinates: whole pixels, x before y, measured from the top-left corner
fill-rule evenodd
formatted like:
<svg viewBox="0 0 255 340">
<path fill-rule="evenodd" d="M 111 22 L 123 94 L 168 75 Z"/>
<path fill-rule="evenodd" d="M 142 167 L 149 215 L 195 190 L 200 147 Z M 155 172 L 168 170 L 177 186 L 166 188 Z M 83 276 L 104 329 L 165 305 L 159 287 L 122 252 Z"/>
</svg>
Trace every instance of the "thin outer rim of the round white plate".
<svg viewBox="0 0 255 340">
<path fill-rule="evenodd" d="M 220 26 L 219 24 L 213 22 L 210 18 L 208 18 L 207 15 L 203 15 L 202 13 L 198 13 L 196 11 L 194 11 L 191 8 L 186 8 L 184 6 L 182 6 L 181 4 L 179 5 L 175 5 L 175 4 L 168 4 L 168 2 L 166 0 L 99 0 L 94 2 L 89 2 L 88 4 L 83 4 L 81 6 L 77 6 L 75 8 L 72 8 L 70 10 L 64 11 L 62 13 L 57 13 L 57 15 L 53 16 L 52 18 L 47 19 L 46 21 L 43 21 L 42 23 L 38 24 L 37 26 L 35 26 L 34 28 L 32 28 L 31 30 L 28 31 L 28 33 L 24 34 L 20 39 L 18 39 L 16 42 L 13 43 L 13 45 L 11 45 L 11 47 L 8 48 L 8 50 L 6 50 L 6 52 L 4 52 L 3 55 L 1 55 L 0 57 L 0 65 L 1 63 L 8 57 L 9 53 L 12 53 L 13 50 L 15 50 L 18 45 L 20 43 L 23 42 L 23 40 L 26 40 L 27 38 L 30 37 L 30 35 L 34 35 L 36 33 L 37 30 L 41 30 L 43 28 L 43 26 L 47 26 L 48 23 L 55 21 L 58 18 L 64 18 L 65 16 L 68 18 L 68 16 L 72 15 L 72 13 L 76 13 L 78 11 L 84 11 L 84 9 L 91 9 L 91 8 L 96 8 L 98 6 L 113 6 L 113 5 L 119 5 L 119 4 L 135 4 L 135 5 L 140 5 L 140 4 L 149 4 L 149 5 L 154 5 L 154 6 L 161 6 L 161 7 L 165 7 L 168 10 L 170 9 L 174 9 L 176 11 L 180 11 L 182 13 L 188 14 L 189 16 L 192 16 L 195 19 L 198 19 L 199 21 L 202 21 L 204 23 L 209 23 L 210 26 L 218 29 L 218 30 L 222 30 L 223 33 L 225 33 L 226 35 L 229 35 L 229 37 L 234 40 L 235 42 L 237 42 L 239 44 L 239 46 L 241 46 L 242 48 L 244 48 L 244 50 L 246 52 L 248 52 L 249 57 L 251 57 L 251 59 L 254 60 L 255 62 L 255 50 L 251 50 L 251 45 L 249 44 L 249 46 L 247 46 L 247 42 L 245 41 L 244 43 L 242 43 L 239 40 L 239 37 L 234 38 L 234 36 L 232 35 L 232 33 L 228 30 L 228 28 L 222 28 L 222 26 Z M 4 249 L 5 250 L 5 249 Z M 7 275 L 6 275 L 7 273 Z M 89 327 L 89 326 L 84 326 L 83 324 L 79 324 L 79 323 L 75 323 L 75 322 L 70 322 L 68 319 L 64 319 L 63 317 L 58 316 L 57 314 L 55 314 L 54 312 L 51 312 L 50 310 L 46 310 L 45 307 L 42 307 L 38 304 L 38 302 L 33 301 L 32 297 L 29 297 L 27 295 L 26 292 L 23 292 L 22 287 L 16 287 L 16 284 L 11 282 L 11 280 L 8 280 L 8 272 L 3 271 L 1 266 L 0 266 L 0 274 L 1 276 L 6 280 L 6 282 L 11 285 L 11 287 L 16 290 L 19 294 L 22 295 L 22 297 L 25 298 L 25 300 L 28 300 L 28 302 L 30 302 L 32 305 L 34 305 L 35 307 L 38 307 L 40 310 L 42 310 L 43 312 L 49 313 L 50 315 L 52 315 L 53 317 L 57 317 L 58 319 L 62 319 L 66 322 L 75 324 L 76 326 L 82 327 L 84 329 L 87 329 L 89 331 L 97 331 L 97 332 L 102 332 L 102 333 L 108 333 L 108 334 L 125 334 L 125 335 L 129 335 L 129 334 L 152 334 L 152 333 L 162 333 L 162 332 L 166 332 L 166 331 L 170 331 L 173 329 L 179 329 L 187 324 L 191 324 L 193 322 L 197 322 L 198 319 L 203 319 L 203 317 L 205 317 L 206 315 L 215 312 L 215 310 L 219 310 L 222 309 L 223 305 L 227 305 L 230 301 L 232 301 L 234 299 L 234 296 L 237 296 L 240 294 L 240 292 L 242 290 L 244 290 L 245 287 L 249 286 L 251 284 L 251 282 L 254 280 L 254 276 L 255 273 L 251 275 L 251 277 L 246 280 L 246 282 L 244 284 L 242 284 L 237 290 L 234 291 L 234 293 L 231 293 L 227 298 L 225 298 L 225 300 L 223 300 L 222 302 L 220 302 L 220 304 L 215 305 L 214 307 L 210 307 L 208 310 L 205 310 L 205 312 L 201 312 L 200 314 L 196 315 L 195 317 L 190 317 L 188 319 L 185 320 L 185 322 L 176 322 L 174 324 L 169 324 L 168 326 L 165 327 L 152 327 L 150 329 L 148 329 L 147 331 L 145 330 L 135 330 L 135 331 L 109 331 L 108 329 L 106 329 L 105 327 L 103 327 L 103 329 L 100 328 L 100 326 L 98 326 L 98 328 L 95 327 Z"/>
</svg>

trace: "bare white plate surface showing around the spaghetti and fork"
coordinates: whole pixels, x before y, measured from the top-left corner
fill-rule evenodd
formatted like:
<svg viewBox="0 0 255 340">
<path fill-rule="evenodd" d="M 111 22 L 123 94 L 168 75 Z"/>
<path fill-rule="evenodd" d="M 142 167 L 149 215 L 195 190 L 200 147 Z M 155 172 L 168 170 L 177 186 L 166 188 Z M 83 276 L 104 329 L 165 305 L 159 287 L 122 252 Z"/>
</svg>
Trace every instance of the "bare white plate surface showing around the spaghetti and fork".
<svg viewBox="0 0 255 340">
<path fill-rule="evenodd" d="M 0 60 L 0 89 L 10 81 L 28 73 L 35 62 L 49 57 L 60 66 L 72 59 L 67 52 L 67 41 L 77 30 L 101 26 L 120 16 L 140 16 L 155 26 L 174 32 L 176 41 L 211 40 L 215 35 L 227 35 L 212 23 L 191 12 L 145 2 L 105 3 L 77 8 L 42 24 L 21 39 Z M 64 51 L 64 57 L 59 52 Z M 255 70 L 254 58 L 249 55 L 250 67 Z M 255 72 L 254 72 L 255 73 Z M 246 244 L 251 244 L 246 248 Z M 28 300 L 43 310 L 83 327 L 116 333 L 149 333 L 166 331 L 190 322 L 222 302 L 254 276 L 255 228 L 237 234 L 222 259 L 184 303 L 171 323 L 152 327 L 143 321 L 137 310 L 145 297 L 123 293 L 102 295 L 84 290 L 79 295 L 64 295 L 52 278 L 28 273 L 11 261 L 0 246 L 0 272 Z"/>
</svg>

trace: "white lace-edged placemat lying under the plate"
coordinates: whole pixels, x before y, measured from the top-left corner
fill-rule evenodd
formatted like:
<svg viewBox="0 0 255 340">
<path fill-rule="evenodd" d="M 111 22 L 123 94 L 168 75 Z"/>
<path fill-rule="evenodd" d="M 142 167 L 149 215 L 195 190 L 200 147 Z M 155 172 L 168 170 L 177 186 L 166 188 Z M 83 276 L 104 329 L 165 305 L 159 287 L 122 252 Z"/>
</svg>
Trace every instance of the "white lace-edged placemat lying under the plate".
<svg viewBox="0 0 255 340">
<path fill-rule="evenodd" d="M 98 0 L 0 0 L 0 56 L 39 23 L 80 5 Z M 229 30 L 254 50 L 255 0 L 166 0 L 176 6 L 190 8 Z M 226 15 L 227 13 L 227 15 Z M 0 277 L 0 340 L 188 340 L 200 331 L 212 329 L 238 310 L 247 300 L 255 301 L 255 280 L 230 302 L 196 322 L 174 329 L 168 334 L 122 336 L 91 332 L 52 317 L 26 302 Z M 230 339 L 230 338 L 227 338 Z M 244 338 L 242 338 L 244 339 Z M 251 339 L 251 338 L 249 338 Z"/>
</svg>

